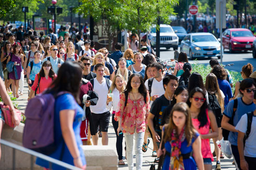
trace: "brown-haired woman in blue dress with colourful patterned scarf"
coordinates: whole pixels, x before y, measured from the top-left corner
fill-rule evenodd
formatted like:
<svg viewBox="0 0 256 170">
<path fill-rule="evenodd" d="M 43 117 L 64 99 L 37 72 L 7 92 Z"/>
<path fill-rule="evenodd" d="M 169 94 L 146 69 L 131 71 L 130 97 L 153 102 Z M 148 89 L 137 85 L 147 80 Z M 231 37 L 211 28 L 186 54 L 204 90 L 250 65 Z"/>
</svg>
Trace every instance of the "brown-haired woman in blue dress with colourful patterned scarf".
<svg viewBox="0 0 256 170">
<path fill-rule="evenodd" d="M 201 136 L 193 127 L 186 103 L 174 105 L 168 124 L 163 126 L 162 139 L 157 151 L 158 157 L 165 153 L 162 170 L 196 170 L 196 166 L 204 170 Z M 194 157 L 190 156 L 192 151 Z"/>
</svg>

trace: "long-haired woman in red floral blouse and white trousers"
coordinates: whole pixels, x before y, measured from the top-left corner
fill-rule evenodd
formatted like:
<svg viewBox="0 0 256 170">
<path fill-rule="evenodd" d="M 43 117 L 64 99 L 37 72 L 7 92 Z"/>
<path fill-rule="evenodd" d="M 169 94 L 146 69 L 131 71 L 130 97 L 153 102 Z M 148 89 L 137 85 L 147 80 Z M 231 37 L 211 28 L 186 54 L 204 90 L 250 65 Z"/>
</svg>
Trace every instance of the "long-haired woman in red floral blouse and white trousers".
<svg viewBox="0 0 256 170">
<path fill-rule="evenodd" d="M 127 99 L 127 100 L 126 100 Z M 140 74 L 132 74 L 121 94 L 115 119 L 117 132 L 123 131 L 129 170 L 133 170 L 133 135 L 135 134 L 136 169 L 142 168 L 142 144 L 149 112 L 149 94 Z"/>
</svg>

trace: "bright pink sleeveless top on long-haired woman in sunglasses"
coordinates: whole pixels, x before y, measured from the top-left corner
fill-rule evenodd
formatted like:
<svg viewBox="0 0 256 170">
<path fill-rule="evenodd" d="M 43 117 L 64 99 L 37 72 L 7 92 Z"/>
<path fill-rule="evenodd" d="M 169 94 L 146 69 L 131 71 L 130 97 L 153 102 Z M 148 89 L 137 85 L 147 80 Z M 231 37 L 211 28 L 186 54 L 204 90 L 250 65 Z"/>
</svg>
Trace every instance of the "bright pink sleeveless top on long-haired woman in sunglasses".
<svg viewBox="0 0 256 170">
<path fill-rule="evenodd" d="M 200 134 L 204 135 L 204 134 L 208 134 L 209 133 L 209 128 L 210 128 L 210 119 L 208 116 L 208 109 L 206 110 L 206 116 L 207 116 L 207 120 L 208 123 L 201 127 L 199 129 L 200 126 L 200 122 L 198 119 L 192 119 L 192 123 L 193 126 L 195 127 L 195 129 L 197 130 L 197 132 L 199 132 Z M 213 155 L 211 153 L 211 148 L 210 148 L 210 143 L 209 143 L 209 139 L 201 139 L 202 141 L 202 157 L 203 158 L 211 158 L 211 160 L 213 161 Z"/>
</svg>

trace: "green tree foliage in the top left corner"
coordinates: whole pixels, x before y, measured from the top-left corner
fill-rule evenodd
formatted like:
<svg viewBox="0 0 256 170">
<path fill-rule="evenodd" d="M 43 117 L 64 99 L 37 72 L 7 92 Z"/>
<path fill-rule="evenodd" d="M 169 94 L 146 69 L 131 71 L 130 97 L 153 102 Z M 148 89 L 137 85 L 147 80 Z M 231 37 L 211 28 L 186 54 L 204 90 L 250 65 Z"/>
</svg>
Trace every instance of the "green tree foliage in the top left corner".
<svg viewBox="0 0 256 170">
<path fill-rule="evenodd" d="M 44 3 L 44 0 L 0 0 L 0 18 L 20 20 L 20 16 L 23 15 L 21 7 L 28 6 L 27 18 L 30 19 L 38 9 L 39 1 Z"/>
</svg>

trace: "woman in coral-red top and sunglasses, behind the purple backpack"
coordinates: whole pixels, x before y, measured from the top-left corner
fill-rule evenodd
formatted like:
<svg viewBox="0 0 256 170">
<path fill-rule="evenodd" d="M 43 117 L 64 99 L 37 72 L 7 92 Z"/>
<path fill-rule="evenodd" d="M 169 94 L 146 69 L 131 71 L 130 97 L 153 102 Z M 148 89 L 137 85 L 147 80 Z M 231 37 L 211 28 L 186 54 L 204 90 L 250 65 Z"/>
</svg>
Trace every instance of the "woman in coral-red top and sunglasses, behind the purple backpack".
<svg viewBox="0 0 256 170">
<path fill-rule="evenodd" d="M 35 76 L 34 78 L 34 84 L 31 87 L 29 96 L 27 98 L 27 101 L 29 101 L 34 94 L 34 91 L 37 89 L 36 94 L 42 93 L 46 88 L 48 88 L 53 80 L 57 77 L 57 75 L 54 73 L 52 64 L 50 61 L 45 61 L 42 64 L 42 68 L 40 72 Z M 38 79 L 40 79 L 39 84 L 38 84 Z"/>
</svg>

